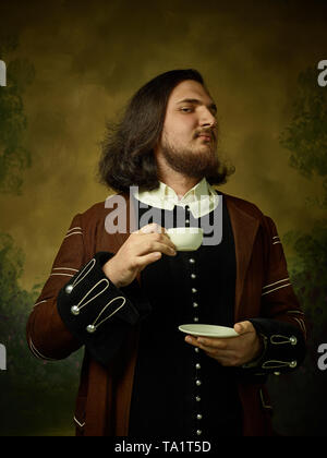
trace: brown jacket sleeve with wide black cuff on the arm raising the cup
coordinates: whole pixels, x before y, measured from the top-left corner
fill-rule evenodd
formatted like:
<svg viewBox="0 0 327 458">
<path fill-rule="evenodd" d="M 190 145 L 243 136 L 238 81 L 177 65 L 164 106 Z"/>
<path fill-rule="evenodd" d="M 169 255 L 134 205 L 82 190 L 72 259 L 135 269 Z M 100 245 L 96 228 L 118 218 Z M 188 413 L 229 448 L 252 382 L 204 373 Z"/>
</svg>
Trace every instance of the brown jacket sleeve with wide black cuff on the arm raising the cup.
<svg viewBox="0 0 327 458">
<path fill-rule="evenodd" d="M 107 365 L 148 305 L 136 280 L 118 289 L 106 277 L 102 265 L 112 253 L 98 252 L 85 260 L 83 231 L 81 215 L 76 215 L 29 315 L 27 342 L 45 360 L 66 358 L 84 345 Z"/>
</svg>

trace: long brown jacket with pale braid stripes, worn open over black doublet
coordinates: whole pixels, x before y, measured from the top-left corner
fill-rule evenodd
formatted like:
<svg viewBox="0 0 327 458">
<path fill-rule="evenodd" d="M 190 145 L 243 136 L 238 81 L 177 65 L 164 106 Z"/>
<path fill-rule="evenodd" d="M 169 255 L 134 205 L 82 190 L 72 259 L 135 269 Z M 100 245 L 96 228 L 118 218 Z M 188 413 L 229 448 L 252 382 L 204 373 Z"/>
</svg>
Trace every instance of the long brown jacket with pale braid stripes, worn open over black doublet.
<svg viewBox="0 0 327 458">
<path fill-rule="evenodd" d="M 234 321 L 259 318 L 255 327 L 266 347 L 266 358 L 255 369 L 244 369 L 252 371 L 252 375 L 241 377 L 239 382 L 243 434 L 271 435 L 271 406 L 263 382 L 269 373 L 293 371 L 303 360 L 304 316 L 289 281 L 274 221 L 252 203 L 227 194 L 222 196 L 235 243 Z M 126 202 L 129 215 L 129 200 Z M 102 202 L 73 218 L 27 323 L 27 342 L 37 358 L 63 359 L 85 343 L 81 335 L 69 329 L 69 321 L 64 323 L 57 302 L 60 291 L 64 296 L 66 284 L 76 278 L 96 253 L 116 253 L 129 237 L 129 232 L 109 234 L 105 230 L 109 212 Z M 128 217 L 128 229 L 129 222 Z M 116 290 L 114 294 L 118 293 Z M 282 330 L 275 325 L 270 328 L 271 323 L 286 327 Z M 87 339 L 74 415 L 76 434 L 126 436 L 137 355 L 137 323 L 130 326 L 119 351 L 106 364 L 87 351 L 90 341 Z M 274 346 L 278 353 L 274 353 Z"/>
</svg>

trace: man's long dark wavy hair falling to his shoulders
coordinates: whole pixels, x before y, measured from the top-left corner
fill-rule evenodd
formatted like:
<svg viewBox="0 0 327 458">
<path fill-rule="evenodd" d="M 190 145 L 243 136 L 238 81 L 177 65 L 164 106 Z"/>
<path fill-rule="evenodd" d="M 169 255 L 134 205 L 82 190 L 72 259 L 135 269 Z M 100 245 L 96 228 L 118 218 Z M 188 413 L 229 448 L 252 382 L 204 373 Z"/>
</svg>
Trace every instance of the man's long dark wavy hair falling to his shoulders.
<svg viewBox="0 0 327 458">
<path fill-rule="evenodd" d="M 147 191 L 158 188 L 154 148 L 161 135 L 169 96 L 185 80 L 204 85 L 202 75 L 193 69 L 162 73 L 137 91 L 118 124 L 107 125 L 98 168 L 101 183 L 119 192 L 129 192 L 132 185 Z M 234 171 L 220 164 L 218 169 L 214 177 L 206 177 L 210 184 L 226 183 Z"/>
</svg>

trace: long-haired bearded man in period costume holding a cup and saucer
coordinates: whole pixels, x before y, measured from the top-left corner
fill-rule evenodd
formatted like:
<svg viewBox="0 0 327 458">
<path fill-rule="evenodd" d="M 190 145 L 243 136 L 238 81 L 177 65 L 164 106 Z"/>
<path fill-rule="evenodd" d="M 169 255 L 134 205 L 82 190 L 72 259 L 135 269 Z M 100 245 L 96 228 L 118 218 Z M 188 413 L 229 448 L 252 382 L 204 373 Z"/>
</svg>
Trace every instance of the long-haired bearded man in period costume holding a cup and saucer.
<svg viewBox="0 0 327 458">
<path fill-rule="evenodd" d="M 272 434 L 264 383 L 302 362 L 305 324 L 274 221 L 213 188 L 232 172 L 216 111 L 194 70 L 135 94 L 99 168 L 119 194 L 74 217 L 31 314 L 37 357 L 85 346 L 78 435 Z M 205 229 L 197 251 L 175 250 L 178 226 Z M 184 336 L 185 323 L 238 335 Z"/>
</svg>

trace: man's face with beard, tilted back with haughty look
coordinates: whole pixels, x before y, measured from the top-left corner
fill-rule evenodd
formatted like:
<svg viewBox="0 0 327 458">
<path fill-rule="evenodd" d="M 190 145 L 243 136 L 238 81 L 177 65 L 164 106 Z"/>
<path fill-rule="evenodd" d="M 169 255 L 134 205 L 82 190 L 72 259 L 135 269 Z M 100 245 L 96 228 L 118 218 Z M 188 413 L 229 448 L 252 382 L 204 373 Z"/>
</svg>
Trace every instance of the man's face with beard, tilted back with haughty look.
<svg viewBox="0 0 327 458">
<path fill-rule="evenodd" d="M 192 178 L 217 166 L 216 105 L 204 86 L 186 80 L 172 91 L 156 149 L 173 170 Z"/>
</svg>

